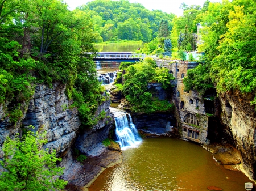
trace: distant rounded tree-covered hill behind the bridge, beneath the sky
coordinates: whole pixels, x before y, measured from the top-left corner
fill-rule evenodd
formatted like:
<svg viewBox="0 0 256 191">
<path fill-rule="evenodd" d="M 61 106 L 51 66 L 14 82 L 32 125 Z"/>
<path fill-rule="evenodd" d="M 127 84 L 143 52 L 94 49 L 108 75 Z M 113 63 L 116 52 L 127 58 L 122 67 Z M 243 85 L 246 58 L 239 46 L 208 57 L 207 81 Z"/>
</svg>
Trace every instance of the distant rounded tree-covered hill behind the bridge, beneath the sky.
<svg viewBox="0 0 256 191">
<path fill-rule="evenodd" d="M 127 0 L 96 0 L 80 6 L 93 20 L 93 30 L 100 34 L 98 42 L 118 40 L 142 40 L 149 42 L 158 36 L 162 20 L 172 29 L 174 14 L 161 10 L 147 10 L 139 3 Z"/>
</svg>

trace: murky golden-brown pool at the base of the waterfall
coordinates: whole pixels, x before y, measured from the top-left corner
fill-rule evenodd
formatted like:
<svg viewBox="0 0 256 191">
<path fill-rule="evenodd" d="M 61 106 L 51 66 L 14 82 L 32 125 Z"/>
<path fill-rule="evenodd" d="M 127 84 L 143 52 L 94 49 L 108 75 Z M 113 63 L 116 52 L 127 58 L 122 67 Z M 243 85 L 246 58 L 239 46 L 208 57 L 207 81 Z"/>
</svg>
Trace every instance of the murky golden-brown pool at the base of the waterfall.
<svg viewBox="0 0 256 191">
<path fill-rule="evenodd" d="M 147 138 L 123 151 L 123 162 L 106 169 L 89 190 L 245 190 L 250 180 L 214 161 L 201 146 L 174 138 Z"/>
</svg>

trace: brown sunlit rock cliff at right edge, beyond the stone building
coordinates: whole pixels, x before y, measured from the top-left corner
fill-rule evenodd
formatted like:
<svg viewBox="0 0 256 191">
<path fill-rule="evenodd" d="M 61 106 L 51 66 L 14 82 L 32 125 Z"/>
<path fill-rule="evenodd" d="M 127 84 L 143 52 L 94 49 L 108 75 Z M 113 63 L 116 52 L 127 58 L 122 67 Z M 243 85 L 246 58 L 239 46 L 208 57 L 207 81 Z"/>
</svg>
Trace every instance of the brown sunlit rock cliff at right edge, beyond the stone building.
<svg viewBox="0 0 256 191">
<path fill-rule="evenodd" d="M 220 119 L 226 131 L 230 131 L 234 143 L 242 155 L 242 171 L 251 179 L 256 179 L 256 113 L 250 104 L 252 94 L 238 91 L 220 94 Z"/>
</svg>

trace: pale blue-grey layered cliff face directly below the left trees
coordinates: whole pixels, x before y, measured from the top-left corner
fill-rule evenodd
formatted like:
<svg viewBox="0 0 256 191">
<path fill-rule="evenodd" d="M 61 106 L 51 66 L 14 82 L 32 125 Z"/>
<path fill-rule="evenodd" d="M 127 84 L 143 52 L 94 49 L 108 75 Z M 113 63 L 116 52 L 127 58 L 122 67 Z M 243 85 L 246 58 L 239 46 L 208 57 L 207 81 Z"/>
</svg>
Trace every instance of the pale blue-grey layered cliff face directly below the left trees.
<svg viewBox="0 0 256 191">
<path fill-rule="evenodd" d="M 70 148 L 75 142 L 77 130 L 80 126 L 78 111 L 76 108 L 68 109 L 72 101 L 65 95 L 65 85 L 59 82 L 53 83 L 52 88 L 45 84 L 39 84 L 35 88 L 28 107 L 24 109 L 24 115 L 15 124 L 10 123 L 8 118 L 1 118 L 1 145 L 7 136 L 12 137 L 16 133 L 22 133 L 22 128 L 32 125 L 34 131 L 47 131 L 48 143 L 44 148 L 56 150 L 57 156 L 63 157 L 61 165 L 66 167 L 71 164 Z M 4 113 L 4 107 L 0 108 Z M 0 156 L 2 158 L 2 155 Z"/>
</svg>

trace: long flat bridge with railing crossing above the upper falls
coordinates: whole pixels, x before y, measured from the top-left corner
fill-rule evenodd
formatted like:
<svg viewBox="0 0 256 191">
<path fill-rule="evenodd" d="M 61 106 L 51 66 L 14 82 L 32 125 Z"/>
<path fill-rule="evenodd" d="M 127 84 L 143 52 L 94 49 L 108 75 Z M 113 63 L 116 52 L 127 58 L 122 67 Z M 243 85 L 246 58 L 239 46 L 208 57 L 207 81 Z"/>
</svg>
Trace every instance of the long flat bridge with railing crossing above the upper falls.
<svg viewBox="0 0 256 191">
<path fill-rule="evenodd" d="M 129 61 L 135 62 L 144 60 L 146 54 L 137 54 L 131 52 L 99 52 L 94 61 Z"/>
</svg>

